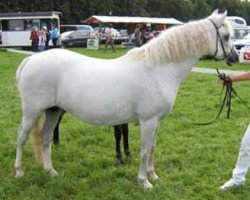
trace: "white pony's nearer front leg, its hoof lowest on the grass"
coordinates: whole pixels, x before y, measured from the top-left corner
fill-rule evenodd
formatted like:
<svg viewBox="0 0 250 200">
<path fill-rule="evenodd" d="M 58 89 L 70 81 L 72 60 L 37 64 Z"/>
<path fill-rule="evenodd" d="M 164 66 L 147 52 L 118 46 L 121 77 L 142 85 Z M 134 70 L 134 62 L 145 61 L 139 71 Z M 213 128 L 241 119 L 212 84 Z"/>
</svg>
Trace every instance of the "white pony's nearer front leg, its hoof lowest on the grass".
<svg viewBox="0 0 250 200">
<path fill-rule="evenodd" d="M 147 121 L 140 120 L 141 127 L 141 165 L 138 174 L 139 184 L 145 188 L 150 189 L 153 185 L 148 181 L 148 163 L 149 159 L 153 154 L 151 154 L 151 144 L 154 140 L 155 132 L 157 129 L 158 119 L 153 118 Z M 151 155 L 150 155 L 151 154 Z"/>
</svg>

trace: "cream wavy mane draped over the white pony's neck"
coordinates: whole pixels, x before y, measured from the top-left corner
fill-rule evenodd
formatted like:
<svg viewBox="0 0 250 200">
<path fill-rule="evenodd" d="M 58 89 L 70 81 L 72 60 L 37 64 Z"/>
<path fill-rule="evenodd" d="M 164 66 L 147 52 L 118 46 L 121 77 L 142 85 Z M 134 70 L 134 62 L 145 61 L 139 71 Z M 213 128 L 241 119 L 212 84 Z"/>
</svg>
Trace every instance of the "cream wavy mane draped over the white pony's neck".
<svg viewBox="0 0 250 200">
<path fill-rule="evenodd" d="M 142 47 L 130 50 L 128 56 L 145 59 L 152 66 L 209 53 L 211 45 L 215 45 L 211 27 L 211 22 L 203 19 L 169 28 Z"/>
</svg>

